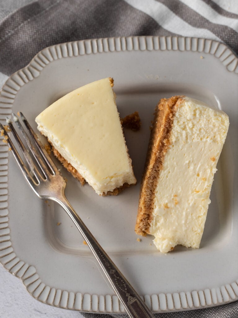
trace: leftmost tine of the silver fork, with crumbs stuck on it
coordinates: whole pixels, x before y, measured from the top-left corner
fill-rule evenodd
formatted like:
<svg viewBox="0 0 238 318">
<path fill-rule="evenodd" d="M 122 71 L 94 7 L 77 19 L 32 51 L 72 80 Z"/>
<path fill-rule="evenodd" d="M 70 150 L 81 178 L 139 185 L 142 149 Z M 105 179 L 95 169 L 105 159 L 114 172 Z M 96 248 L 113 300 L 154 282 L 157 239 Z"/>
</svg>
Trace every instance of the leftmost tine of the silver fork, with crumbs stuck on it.
<svg viewBox="0 0 238 318">
<path fill-rule="evenodd" d="M 3 125 L 2 125 L 1 123 L 0 123 L 0 128 L 1 128 L 1 132 L 3 132 L 3 135 L 4 135 L 4 137 L 5 137 L 4 139 L 6 140 L 8 146 L 10 147 L 9 150 L 11 150 L 11 152 L 12 152 L 14 158 L 16 159 L 16 162 L 17 162 L 18 166 L 20 167 L 20 169 L 21 169 L 21 171 L 22 171 L 22 173 L 23 173 L 25 179 L 28 181 L 28 183 L 29 183 L 30 185 L 32 185 L 33 183 L 34 183 L 34 184 L 37 184 L 37 183 L 35 182 L 35 180 L 32 178 L 32 176 L 31 176 L 29 170 L 28 170 L 27 167 L 25 166 L 25 164 L 24 164 L 22 158 L 20 157 L 20 155 L 19 155 L 17 149 L 15 148 L 15 146 L 14 146 L 14 144 L 12 143 L 12 141 L 11 141 L 11 139 L 10 139 L 8 133 L 6 132 L 5 128 L 3 127 Z M 37 177 L 36 177 L 36 179 L 37 179 Z M 37 181 L 39 182 L 38 179 L 37 179 Z"/>
</svg>

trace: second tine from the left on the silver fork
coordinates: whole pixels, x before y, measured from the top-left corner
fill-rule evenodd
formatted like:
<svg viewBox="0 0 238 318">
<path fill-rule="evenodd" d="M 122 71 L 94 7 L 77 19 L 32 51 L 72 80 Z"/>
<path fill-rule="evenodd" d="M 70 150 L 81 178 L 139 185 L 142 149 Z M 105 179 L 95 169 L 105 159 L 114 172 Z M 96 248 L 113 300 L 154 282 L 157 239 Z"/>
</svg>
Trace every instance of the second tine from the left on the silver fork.
<svg viewBox="0 0 238 318">
<path fill-rule="evenodd" d="M 40 176 L 41 178 L 43 178 L 43 177 L 40 174 L 39 170 L 37 169 L 34 161 L 32 160 L 32 158 L 31 158 L 31 156 L 29 154 L 29 151 L 26 149 L 26 147 L 24 146 L 23 142 L 21 141 L 19 135 L 16 132 L 16 129 L 12 125 L 12 121 L 10 120 L 10 118 L 6 117 L 6 122 L 9 125 L 9 128 L 10 128 L 15 140 L 17 141 L 18 146 L 22 150 L 23 156 L 25 157 L 25 159 L 26 159 L 26 161 L 28 163 L 28 166 L 29 166 L 29 169 L 30 169 L 30 173 L 32 173 L 35 176 L 35 178 L 37 179 L 37 181 L 39 182 L 38 176 Z"/>
</svg>

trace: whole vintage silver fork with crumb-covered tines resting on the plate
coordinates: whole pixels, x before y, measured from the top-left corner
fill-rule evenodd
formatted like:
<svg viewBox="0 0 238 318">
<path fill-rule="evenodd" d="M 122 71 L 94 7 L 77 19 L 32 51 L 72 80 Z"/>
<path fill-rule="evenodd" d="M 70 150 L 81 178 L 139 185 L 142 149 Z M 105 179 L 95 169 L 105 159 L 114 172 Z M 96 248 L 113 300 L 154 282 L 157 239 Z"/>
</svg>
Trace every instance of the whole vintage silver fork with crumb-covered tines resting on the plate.
<svg viewBox="0 0 238 318">
<path fill-rule="evenodd" d="M 4 129 L 1 123 L 0 128 L 2 135 L 4 135 L 4 139 L 8 143 L 10 150 L 31 189 L 40 199 L 55 201 L 60 204 L 62 208 L 67 212 L 67 214 L 83 236 L 83 239 L 87 242 L 93 255 L 96 257 L 96 260 L 101 266 L 104 274 L 107 276 L 117 296 L 121 300 L 129 317 L 152 318 L 153 315 L 151 314 L 149 308 L 145 305 L 134 288 L 129 284 L 128 280 L 123 276 L 114 262 L 109 258 L 107 253 L 102 249 L 97 240 L 93 237 L 89 229 L 86 227 L 81 218 L 77 215 L 73 207 L 70 205 L 64 194 L 64 189 L 66 187 L 65 178 L 58 171 L 56 165 L 51 160 L 50 156 L 44 149 L 42 143 L 37 138 L 37 135 L 35 134 L 33 129 L 30 127 L 30 124 L 26 120 L 25 116 L 20 113 L 20 117 L 25 127 L 27 128 L 31 138 L 29 138 L 28 134 L 25 132 L 18 117 L 13 114 L 13 120 L 22 133 L 23 138 L 30 149 L 30 152 L 24 146 L 22 140 L 20 139 L 12 124 L 12 121 L 9 118 L 7 118 L 7 124 L 10 128 L 10 131 L 12 132 L 12 135 L 16 139 L 18 146 L 23 152 L 23 156 L 25 158 L 25 161 L 27 162 L 28 168 L 23 162 L 7 131 Z"/>
</svg>

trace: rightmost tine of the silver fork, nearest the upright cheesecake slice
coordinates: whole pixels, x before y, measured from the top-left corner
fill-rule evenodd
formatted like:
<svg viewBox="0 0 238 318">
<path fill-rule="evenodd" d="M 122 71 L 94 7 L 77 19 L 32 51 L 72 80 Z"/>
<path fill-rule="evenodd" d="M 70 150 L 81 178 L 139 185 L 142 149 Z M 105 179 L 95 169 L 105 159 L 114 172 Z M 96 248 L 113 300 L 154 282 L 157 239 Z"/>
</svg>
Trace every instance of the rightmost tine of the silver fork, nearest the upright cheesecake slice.
<svg viewBox="0 0 238 318">
<path fill-rule="evenodd" d="M 58 168 L 56 167 L 55 163 L 53 162 L 53 160 L 50 158 L 49 154 L 47 153 L 47 151 L 45 150 L 43 144 L 40 142 L 40 140 L 38 139 L 38 136 L 36 135 L 36 133 L 34 132 L 34 130 L 31 128 L 29 122 L 27 121 L 26 117 L 23 115 L 22 112 L 20 112 L 20 116 L 21 119 L 25 125 L 25 127 L 27 128 L 27 130 L 29 131 L 32 139 L 34 140 L 34 142 L 36 143 L 37 148 L 39 149 L 41 155 L 43 156 L 45 162 L 48 164 L 50 170 L 52 171 L 52 173 L 58 174 Z"/>
</svg>

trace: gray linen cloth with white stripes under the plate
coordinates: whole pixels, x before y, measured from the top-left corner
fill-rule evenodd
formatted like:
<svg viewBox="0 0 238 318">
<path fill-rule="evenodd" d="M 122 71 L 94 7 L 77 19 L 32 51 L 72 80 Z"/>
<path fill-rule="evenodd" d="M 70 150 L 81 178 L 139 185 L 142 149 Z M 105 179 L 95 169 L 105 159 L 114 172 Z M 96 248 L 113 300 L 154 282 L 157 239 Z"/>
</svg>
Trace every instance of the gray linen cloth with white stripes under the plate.
<svg viewBox="0 0 238 318">
<path fill-rule="evenodd" d="M 44 47 L 89 38 L 208 38 L 223 42 L 238 54 L 237 0 L 0 0 L 0 19 L 0 85 Z M 238 318 L 238 301 L 155 317 Z"/>
</svg>

